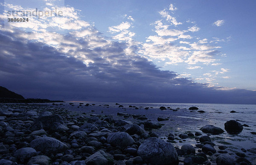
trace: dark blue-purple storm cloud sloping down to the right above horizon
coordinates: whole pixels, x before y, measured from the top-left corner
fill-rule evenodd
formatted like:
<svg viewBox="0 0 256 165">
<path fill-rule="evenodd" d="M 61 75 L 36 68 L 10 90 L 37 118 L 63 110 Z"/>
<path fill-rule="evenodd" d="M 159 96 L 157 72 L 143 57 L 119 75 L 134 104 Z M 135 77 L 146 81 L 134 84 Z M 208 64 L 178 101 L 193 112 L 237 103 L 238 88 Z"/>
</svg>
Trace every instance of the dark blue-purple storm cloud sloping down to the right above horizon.
<svg viewBox="0 0 256 165">
<path fill-rule="evenodd" d="M 76 41 L 81 48 L 62 53 L 41 42 L 32 42 L 17 33 L 0 32 L 0 85 L 24 97 L 105 102 L 211 102 L 255 103 L 256 92 L 243 89 L 221 91 L 207 84 L 177 78 L 161 71 L 136 54 L 125 54 L 126 43 L 110 42 L 90 49 L 92 40 Z M 107 43 L 99 36 L 97 42 Z M 134 46 L 136 51 L 136 46 Z M 86 54 L 94 63 L 84 64 Z"/>
</svg>

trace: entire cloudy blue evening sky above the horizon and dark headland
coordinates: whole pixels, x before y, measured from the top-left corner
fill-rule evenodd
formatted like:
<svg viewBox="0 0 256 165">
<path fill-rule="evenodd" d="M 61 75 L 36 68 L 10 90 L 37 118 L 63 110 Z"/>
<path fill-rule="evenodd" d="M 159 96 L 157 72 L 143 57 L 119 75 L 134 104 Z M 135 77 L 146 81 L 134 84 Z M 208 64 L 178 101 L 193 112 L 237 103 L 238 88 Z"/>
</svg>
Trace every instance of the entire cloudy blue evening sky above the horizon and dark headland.
<svg viewBox="0 0 256 165">
<path fill-rule="evenodd" d="M 26 98 L 256 103 L 255 7 L 1 0 L 0 85 Z"/>
</svg>

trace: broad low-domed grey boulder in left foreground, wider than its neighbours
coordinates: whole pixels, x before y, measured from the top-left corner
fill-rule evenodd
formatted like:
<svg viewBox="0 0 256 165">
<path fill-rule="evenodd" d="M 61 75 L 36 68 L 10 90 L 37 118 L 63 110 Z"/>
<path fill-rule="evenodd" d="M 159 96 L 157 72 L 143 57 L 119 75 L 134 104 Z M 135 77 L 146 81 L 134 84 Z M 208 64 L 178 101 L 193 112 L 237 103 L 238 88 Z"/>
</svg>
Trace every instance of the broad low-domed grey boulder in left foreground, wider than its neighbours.
<svg viewBox="0 0 256 165">
<path fill-rule="evenodd" d="M 29 145 L 43 153 L 59 153 L 67 149 L 67 145 L 52 137 L 39 137 L 32 140 Z"/>
</svg>

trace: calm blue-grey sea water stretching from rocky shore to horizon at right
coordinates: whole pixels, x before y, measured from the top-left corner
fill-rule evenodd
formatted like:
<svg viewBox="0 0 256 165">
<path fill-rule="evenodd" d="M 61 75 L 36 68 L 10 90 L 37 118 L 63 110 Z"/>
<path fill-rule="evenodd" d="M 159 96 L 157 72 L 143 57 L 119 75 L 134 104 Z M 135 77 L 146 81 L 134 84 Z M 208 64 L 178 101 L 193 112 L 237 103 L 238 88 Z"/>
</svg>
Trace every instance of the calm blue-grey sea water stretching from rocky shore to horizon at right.
<svg viewBox="0 0 256 165">
<path fill-rule="evenodd" d="M 117 112 L 123 112 L 127 114 L 141 114 L 145 115 L 151 121 L 157 121 L 157 117 L 169 117 L 169 120 L 162 121 L 160 123 L 164 124 L 159 130 L 153 130 L 156 132 L 160 138 L 167 139 L 170 132 L 175 132 L 176 134 L 188 133 L 188 132 L 200 132 L 200 128 L 204 125 L 210 124 L 220 127 L 224 130 L 224 123 L 228 120 L 237 120 L 241 124 L 247 124 L 249 127 L 244 127 L 243 131 L 237 135 L 227 134 L 225 131 L 220 135 L 211 135 L 212 141 L 216 144 L 216 149 L 218 150 L 219 145 L 226 145 L 226 149 L 229 154 L 228 156 L 233 156 L 235 159 L 235 152 L 241 152 L 241 148 L 250 149 L 256 148 L 256 135 L 250 132 L 256 132 L 256 105 L 239 105 L 239 104 L 192 104 L 192 103 L 120 103 L 123 105 L 119 108 L 119 105 L 110 102 L 84 102 L 84 104 L 89 103 L 96 104 L 93 106 L 79 106 L 79 102 L 73 102 L 74 106 L 70 106 L 69 102 L 64 103 L 64 107 L 71 111 L 86 112 L 88 114 L 106 114 L 113 115 L 114 118 L 124 119 L 122 116 L 117 116 Z M 109 107 L 104 105 L 108 104 Z M 101 106 L 99 106 L 101 105 Z M 136 106 L 139 109 L 128 108 L 129 105 Z M 78 108 L 79 106 L 79 108 Z M 170 107 L 172 109 L 177 109 L 177 111 L 164 110 L 161 111 L 160 106 Z M 191 112 L 188 108 L 191 106 L 196 106 L 199 110 L 205 111 L 205 113 L 199 113 L 197 111 Z M 152 107 L 145 110 L 145 107 Z M 91 111 L 93 110 L 93 111 Z M 237 113 L 230 113 L 230 111 L 236 111 Z M 137 119 L 132 117 L 127 118 L 133 122 L 137 122 Z M 184 142 L 174 143 L 175 146 L 181 146 L 183 144 L 192 144 L 195 146 L 197 142 L 195 139 L 186 139 Z M 253 161 L 256 154 L 251 154 L 247 152 L 247 159 Z"/>
</svg>

